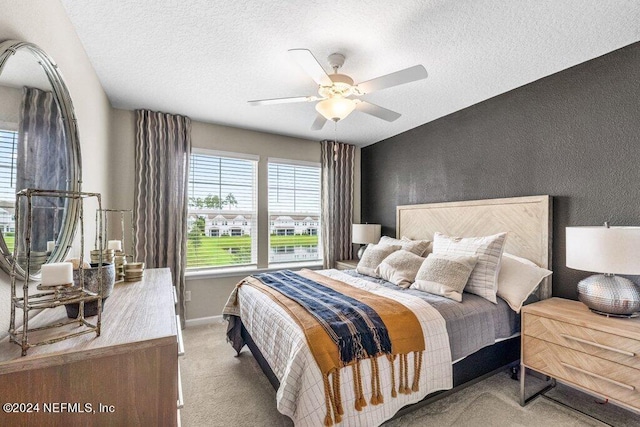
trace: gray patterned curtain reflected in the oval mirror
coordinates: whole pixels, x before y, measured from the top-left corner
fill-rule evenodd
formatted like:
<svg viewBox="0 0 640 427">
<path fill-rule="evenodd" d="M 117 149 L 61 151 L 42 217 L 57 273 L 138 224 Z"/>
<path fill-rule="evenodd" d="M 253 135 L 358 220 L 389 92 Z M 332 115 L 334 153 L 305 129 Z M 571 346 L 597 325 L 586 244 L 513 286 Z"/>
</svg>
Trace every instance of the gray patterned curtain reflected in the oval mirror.
<svg viewBox="0 0 640 427">
<path fill-rule="evenodd" d="M 52 92 L 23 87 L 16 157 L 16 190 L 67 189 L 67 143 L 62 113 Z M 32 202 L 31 250 L 45 252 L 47 241 L 58 237 L 65 200 L 35 197 Z M 26 206 L 21 209 L 26 214 Z M 26 220 L 21 223 L 26 225 Z"/>
</svg>

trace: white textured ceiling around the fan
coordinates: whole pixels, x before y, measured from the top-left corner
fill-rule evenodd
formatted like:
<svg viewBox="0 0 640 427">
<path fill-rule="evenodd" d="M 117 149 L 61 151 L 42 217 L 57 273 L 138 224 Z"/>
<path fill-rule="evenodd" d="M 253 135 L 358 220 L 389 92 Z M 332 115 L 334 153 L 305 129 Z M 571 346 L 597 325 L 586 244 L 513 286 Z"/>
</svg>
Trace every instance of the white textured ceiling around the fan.
<svg viewBox="0 0 640 427">
<path fill-rule="evenodd" d="M 116 108 L 359 146 L 397 135 L 640 40 L 638 0 L 61 0 Z M 416 64 L 426 80 L 363 99 L 402 114 L 354 112 L 310 130 L 316 94 L 288 56 L 346 56 L 362 82 Z M 64 70 L 62 70 L 64 72 Z"/>
</svg>

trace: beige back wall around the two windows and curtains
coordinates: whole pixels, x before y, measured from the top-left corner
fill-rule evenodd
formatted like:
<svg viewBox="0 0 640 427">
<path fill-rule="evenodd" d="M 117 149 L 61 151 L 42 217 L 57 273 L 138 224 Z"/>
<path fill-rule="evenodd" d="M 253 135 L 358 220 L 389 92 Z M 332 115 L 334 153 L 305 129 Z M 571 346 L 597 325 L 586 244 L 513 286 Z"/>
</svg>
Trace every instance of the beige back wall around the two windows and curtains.
<svg viewBox="0 0 640 427">
<path fill-rule="evenodd" d="M 179 111 L 175 113 L 179 114 Z M 114 165 L 114 205 L 119 209 L 133 207 L 135 112 L 114 110 L 111 132 L 113 147 L 111 162 Z M 320 163 L 320 143 L 262 132 L 254 132 L 210 123 L 192 122 L 191 140 L 194 148 L 230 151 L 260 156 L 258 164 L 258 221 L 267 224 L 267 159 L 302 160 Z M 360 150 L 356 155 L 354 221 L 360 220 Z M 268 264 L 268 229 L 258 236 L 258 265 Z M 246 274 L 237 276 L 187 279 L 191 301 L 187 302 L 187 319 L 217 316 L 227 301 L 233 286 Z"/>
</svg>

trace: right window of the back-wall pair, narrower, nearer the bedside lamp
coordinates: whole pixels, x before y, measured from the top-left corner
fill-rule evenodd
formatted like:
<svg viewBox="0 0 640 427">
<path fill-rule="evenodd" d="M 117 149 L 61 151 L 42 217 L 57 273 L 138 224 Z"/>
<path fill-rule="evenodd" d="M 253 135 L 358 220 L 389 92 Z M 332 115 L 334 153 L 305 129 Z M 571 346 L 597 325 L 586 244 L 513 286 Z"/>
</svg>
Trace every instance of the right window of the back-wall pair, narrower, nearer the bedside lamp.
<svg viewBox="0 0 640 427">
<path fill-rule="evenodd" d="M 322 259 L 320 166 L 269 161 L 269 262 Z"/>
</svg>

